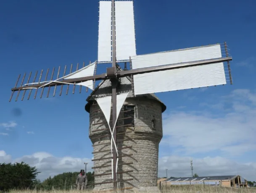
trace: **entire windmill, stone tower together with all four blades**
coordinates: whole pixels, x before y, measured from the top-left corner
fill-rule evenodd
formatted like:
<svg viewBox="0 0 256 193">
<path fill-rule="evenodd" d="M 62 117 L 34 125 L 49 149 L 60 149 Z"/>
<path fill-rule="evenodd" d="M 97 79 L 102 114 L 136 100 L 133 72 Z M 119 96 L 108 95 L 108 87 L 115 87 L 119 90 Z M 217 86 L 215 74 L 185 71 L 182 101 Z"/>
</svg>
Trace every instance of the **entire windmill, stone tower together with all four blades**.
<svg viewBox="0 0 256 193">
<path fill-rule="evenodd" d="M 94 149 L 95 190 L 156 188 L 158 167 L 158 144 L 162 138 L 161 113 L 165 105 L 153 93 L 194 89 L 232 84 L 227 44 L 212 44 L 182 50 L 137 55 L 132 0 L 100 0 L 98 60 L 74 72 L 72 65 L 66 75 L 55 68 L 48 79 L 49 68 L 38 82 L 37 73 L 29 83 L 32 73 L 24 83 L 11 89 L 21 91 L 24 99 L 35 90 L 34 99 L 41 89 L 40 98 L 47 90 L 60 88 L 60 96 L 86 87 L 92 90 L 85 110 L 90 113 L 89 136 Z M 126 63 L 130 69 L 127 70 Z M 227 65 L 224 65 L 227 62 Z M 97 65 L 106 67 L 106 73 L 96 74 Z M 124 70 L 120 66 L 124 64 Z M 225 70 L 227 69 L 227 70 Z M 227 72 L 227 74 L 226 74 Z M 63 74 L 63 76 L 61 76 Z M 228 77 L 229 76 L 229 77 Z M 54 78 L 54 79 L 53 79 Z M 101 81 L 95 88 L 95 81 Z"/>
</svg>

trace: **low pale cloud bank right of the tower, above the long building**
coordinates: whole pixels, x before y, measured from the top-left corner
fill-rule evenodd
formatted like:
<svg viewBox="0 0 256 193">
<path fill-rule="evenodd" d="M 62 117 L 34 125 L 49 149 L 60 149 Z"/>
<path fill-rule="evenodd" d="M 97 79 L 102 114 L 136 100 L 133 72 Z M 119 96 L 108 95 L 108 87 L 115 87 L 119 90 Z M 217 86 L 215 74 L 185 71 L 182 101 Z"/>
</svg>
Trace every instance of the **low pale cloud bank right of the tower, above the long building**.
<svg viewBox="0 0 256 193">
<path fill-rule="evenodd" d="M 166 156 L 159 159 L 158 176 L 190 177 L 190 157 Z M 255 181 L 256 162 L 239 164 L 220 156 L 193 159 L 193 173 L 199 176 L 241 175 L 246 180 Z"/>
</svg>

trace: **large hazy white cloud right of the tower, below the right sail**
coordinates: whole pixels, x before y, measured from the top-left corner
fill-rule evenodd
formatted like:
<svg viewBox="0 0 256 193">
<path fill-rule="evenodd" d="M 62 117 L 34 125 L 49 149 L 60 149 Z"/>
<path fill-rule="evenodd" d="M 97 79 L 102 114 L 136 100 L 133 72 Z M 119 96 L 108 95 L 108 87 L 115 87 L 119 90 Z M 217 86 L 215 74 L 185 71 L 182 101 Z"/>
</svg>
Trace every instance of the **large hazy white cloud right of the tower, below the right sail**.
<svg viewBox="0 0 256 193">
<path fill-rule="evenodd" d="M 238 89 L 220 98 L 206 104 L 206 110 L 165 115 L 161 145 L 186 155 L 216 150 L 237 155 L 256 149 L 256 94 Z"/>
</svg>

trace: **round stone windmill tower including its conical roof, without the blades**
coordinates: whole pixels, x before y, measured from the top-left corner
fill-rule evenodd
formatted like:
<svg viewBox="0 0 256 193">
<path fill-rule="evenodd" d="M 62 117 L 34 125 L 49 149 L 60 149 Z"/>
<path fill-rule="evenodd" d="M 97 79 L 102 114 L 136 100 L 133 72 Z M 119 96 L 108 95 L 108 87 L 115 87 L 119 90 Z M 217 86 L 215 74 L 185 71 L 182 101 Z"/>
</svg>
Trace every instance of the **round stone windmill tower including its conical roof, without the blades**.
<svg viewBox="0 0 256 193">
<path fill-rule="evenodd" d="M 119 70 L 121 70 L 119 68 Z M 85 110 L 90 113 L 89 136 L 94 154 L 95 190 L 113 188 L 111 180 L 111 135 L 103 112 L 95 99 L 111 96 L 111 82 L 100 84 L 87 98 Z M 119 162 L 117 178 L 121 189 L 136 187 L 157 190 L 158 145 L 163 136 L 162 112 L 166 106 L 154 95 L 134 96 L 132 79 L 120 78 L 117 93 L 130 91 L 118 117 L 116 128 Z M 125 181 L 128 180 L 128 181 Z M 152 189 L 153 188 L 153 189 Z"/>
</svg>

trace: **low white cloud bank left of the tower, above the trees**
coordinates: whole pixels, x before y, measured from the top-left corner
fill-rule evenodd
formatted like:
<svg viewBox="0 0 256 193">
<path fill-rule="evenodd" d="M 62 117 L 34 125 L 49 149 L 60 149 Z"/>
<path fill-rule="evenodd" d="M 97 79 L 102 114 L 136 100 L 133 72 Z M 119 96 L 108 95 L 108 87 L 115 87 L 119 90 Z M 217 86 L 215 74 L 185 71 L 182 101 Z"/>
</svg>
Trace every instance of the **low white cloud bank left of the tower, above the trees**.
<svg viewBox="0 0 256 193">
<path fill-rule="evenodd" d="M 32 155 L 25 155 L 17 159 L 12 159 L 11 155 L 5 153 L 5 151 L 0 151 L 0 163 L 10 163 L 10 162 L 25 162 L 32 167 L 38 168 L 41 172 L 38 175 L 40 180 L 44 180 L 47 177 L 61 174 L 63 172 L 79 172 L 84 169 L 84 162 L 87 162 L 87 171 L 92 171 L 93 163 L 91 159 L 88 158 L 75 158 L 70 156 L 65 157 L 55 157 L 47 152 L 37 152 Z"/>
</svg>

